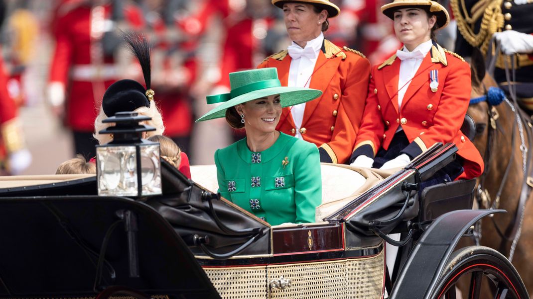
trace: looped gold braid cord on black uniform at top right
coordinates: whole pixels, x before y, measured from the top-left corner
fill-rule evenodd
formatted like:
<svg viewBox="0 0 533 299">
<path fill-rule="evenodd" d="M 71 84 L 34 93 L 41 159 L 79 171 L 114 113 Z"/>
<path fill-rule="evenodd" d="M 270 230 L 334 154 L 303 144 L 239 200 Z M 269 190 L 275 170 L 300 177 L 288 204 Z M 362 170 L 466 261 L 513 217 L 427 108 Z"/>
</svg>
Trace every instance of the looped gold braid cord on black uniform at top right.
<svg viewBox="0 0 533 299">
<path fill-rule="evenodd" d="M 469 12 L 466 11 L 464 1 L 465 0 L 450 1 L 451 10 L 454 12 L 454 17 L 457 21 L 457 28 L 470 45 L 478 47 L 483 55 L 487 55 L 487 49 L 492 35 L 495 32 L 500 31 L 504 25 L 504 17 L 502 13 L 503 0 L 489 1 L 483 11 L 481 26 L 478 33 L 474 32 L 474 25 L 480 18 L 481 13 L 474 13 L 473 16 L 470 17 Z M 459 7 L 459 2 L 461 2 L 461 7 Z M 475 6 L 479 5 L 474 5 L 474 7 Z"/>
</svg>

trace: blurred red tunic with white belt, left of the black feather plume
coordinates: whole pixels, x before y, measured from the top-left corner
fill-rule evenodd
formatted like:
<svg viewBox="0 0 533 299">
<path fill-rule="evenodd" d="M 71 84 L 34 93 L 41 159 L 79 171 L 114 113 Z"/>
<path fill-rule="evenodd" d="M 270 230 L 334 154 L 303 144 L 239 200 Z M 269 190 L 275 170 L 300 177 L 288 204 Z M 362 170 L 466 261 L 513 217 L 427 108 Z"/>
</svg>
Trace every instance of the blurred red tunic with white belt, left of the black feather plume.
<svg viewBox="0 0 533 299">
<path fill-rule="evenodd" d="M 113 57 L 102 54 L 101 39 L 110 13 L 109 5 L 83 3 L 68 11 L 59 9 L 54 22 L 56 44 L 49 81 L 66 88 L 66 123 L 74 131 L 94 130 L 103 93 L 121 79 Z M 125 9 L 125 18 L 133 28 L 143 24 L 133 6 Z"/>
</svg>

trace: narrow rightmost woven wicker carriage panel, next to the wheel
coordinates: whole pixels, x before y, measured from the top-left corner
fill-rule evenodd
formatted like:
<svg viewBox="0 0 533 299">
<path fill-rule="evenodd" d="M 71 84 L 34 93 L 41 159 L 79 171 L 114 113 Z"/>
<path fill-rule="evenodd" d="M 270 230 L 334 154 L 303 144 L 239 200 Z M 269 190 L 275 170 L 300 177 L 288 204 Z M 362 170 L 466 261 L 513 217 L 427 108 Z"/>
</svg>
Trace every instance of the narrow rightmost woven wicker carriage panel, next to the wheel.
<svg viewBox="0 0 533 299">
<path fill-rule="evenodd" d="M 384 250 L 375 257 L 351 259 L 346 262 L 348 276 L 347 298 L 381 298 L 383 288 Z"/>
</svg>

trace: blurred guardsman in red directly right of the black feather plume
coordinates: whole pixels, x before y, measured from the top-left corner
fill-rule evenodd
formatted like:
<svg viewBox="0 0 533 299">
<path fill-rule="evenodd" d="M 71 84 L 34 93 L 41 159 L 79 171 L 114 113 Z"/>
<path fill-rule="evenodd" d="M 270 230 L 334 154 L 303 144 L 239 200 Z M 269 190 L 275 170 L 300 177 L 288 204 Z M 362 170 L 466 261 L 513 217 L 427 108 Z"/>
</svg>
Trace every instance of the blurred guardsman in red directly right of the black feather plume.
<svg viewBox="0 0 533 299">
<path fill-rule="evenodd" d="M 197 42 L 185 36 L 174 18 L 175 0 L 145 2 L 147 36 L 152 44 L 151 81 L 165 123 L 165 135 L 190 152 L 192 109 L 189 90 L 196 80 Z"/>
</svg>

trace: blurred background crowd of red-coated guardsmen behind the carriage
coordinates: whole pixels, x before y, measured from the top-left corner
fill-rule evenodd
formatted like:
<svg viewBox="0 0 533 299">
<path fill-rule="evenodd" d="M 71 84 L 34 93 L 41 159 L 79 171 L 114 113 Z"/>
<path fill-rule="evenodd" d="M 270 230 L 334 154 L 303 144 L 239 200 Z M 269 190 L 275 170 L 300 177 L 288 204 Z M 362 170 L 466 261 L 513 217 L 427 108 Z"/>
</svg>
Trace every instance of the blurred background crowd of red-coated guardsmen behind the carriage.
<svg viewBox="0 0 533 299">
<path fill-rule="evenodd" d="M 209 110 L 205 96 L 229 91 L 228 73 L 253 69 L 290 45 L 282 11 L 270 0 L 0 2 L 0 96 L 7 93 L 0 99 L 0 126 L 11 124 L 0 142 L 3 174 L 52 174 L 76 153 L 94 156 L 103 92 L 119 79 L 142 82 L 121 31 L 142 32 L 152 43 L 152 89 L 165 135 L 192 165 L 213 164 L 214 151 L 241 136 L 224 119 L 194 123 Z M 332 2 L 341 8 L 325 32 L 334 44 L 359 50 L 373 65 L 401 47 L 379 10 L 386 0 Z M 455 31 L 454 22 L 439 31 L 439 44 L 453 50 Z M 7 134 L 17 136 L 12 150 Z"/>
</svg>

